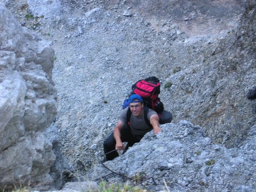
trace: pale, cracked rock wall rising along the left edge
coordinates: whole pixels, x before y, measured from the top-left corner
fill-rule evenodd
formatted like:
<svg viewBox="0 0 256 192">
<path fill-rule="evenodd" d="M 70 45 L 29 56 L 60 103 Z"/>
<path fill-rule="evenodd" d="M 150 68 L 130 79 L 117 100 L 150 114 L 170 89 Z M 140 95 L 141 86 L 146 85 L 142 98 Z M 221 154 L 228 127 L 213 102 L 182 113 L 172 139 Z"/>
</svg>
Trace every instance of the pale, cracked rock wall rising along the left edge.
<svg viewBox="0 0 256 192">
<path fill-rule="evenodd" d="M 0 189 L 51 185 L 56 156 L 42 131 L 57 114 L 54 50 L 0 3 Z M 47 188 L 47 187 L 46 187 Z"/>
</svg>

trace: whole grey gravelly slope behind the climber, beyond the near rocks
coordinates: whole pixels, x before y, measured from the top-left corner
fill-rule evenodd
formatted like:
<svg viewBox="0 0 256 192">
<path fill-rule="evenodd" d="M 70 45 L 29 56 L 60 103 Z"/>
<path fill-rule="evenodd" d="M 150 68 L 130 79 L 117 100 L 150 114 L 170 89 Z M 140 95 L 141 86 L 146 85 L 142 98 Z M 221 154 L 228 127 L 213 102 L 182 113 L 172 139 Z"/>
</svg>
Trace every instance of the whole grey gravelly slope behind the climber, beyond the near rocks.
<svg viewBox="0 0 256 192">
<path fill-rule="evenodd" d="M 102 141 L 131 84 L 152 75 L 174 123 L 200 125 L 223 150 L 246 145 L 256 123 L 256 100 L 247 98 L 256 82 L 255 0 L 42 0 L 42 10 L 61 3 L 61 14 L 45 17 L 37 0 L 3 1 L 20 24 L 52 41 L 54 126 L 81 175 L 104 157 Z"/>
</svg>

